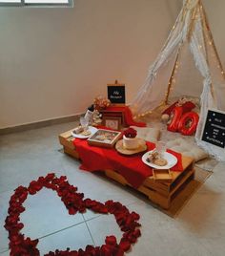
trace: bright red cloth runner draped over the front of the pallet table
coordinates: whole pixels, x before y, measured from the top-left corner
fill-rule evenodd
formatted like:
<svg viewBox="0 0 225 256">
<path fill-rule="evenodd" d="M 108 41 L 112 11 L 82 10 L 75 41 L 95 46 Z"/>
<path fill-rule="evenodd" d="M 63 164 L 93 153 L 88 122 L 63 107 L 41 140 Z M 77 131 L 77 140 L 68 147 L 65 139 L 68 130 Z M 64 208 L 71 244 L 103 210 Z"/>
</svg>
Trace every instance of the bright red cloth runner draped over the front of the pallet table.
<svg viewBox="0 0 225 256">
<path fill-rule="evenodd" d="M 154 143 L 147 141 L 148 150 L 153 150 Z M 90 146 L 86 139 L 73 139 L 73 145 L 82 161 L 80 169 L 86 171 L 116 170 L 134 188 L 138 188 L 146 178 L 153 175 L 153 168 L 146 165 L 142 155 L 123 156 L 114 148 Z M 177 158 L 173 171 L 182 171 L 181 154 L 168 150 Z"/>
</svg>

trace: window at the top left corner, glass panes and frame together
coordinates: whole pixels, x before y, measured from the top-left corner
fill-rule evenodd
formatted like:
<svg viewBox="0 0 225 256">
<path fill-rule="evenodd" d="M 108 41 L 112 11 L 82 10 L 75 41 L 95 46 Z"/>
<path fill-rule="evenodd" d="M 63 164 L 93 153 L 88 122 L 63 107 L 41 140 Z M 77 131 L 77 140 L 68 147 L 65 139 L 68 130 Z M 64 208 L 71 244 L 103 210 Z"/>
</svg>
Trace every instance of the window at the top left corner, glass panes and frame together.
<svg viewBox="0 0 225 256">
<path fill-rule="evenodd" d="M 0 0 L 1 6 L 65 6 L 72 7 L 73 0 Z"/>
</svg>

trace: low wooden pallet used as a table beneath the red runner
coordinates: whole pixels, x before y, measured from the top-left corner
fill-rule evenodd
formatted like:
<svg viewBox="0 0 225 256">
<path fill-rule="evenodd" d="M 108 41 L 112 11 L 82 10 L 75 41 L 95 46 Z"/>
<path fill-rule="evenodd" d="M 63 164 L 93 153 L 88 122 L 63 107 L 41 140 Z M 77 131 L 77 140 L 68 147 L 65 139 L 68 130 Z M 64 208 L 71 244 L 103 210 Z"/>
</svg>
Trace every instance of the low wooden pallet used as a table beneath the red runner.
<svg viewBox="0 0 225 256">
<path fill-rule="evenodd" d="M 59 135 L 59 141 L 63 145 L 64 153 L 79 160 L 79 155 L 72 143 L 72 130 Z M 154 181 L 153 177 L 148 177 L 137 189 L 141 193 L 148 196 L 153 202 L 164 209 L 169 209 L 176 196 L 185 186 L 194 180 L 194 160 L 182 156 L 182 172 L 173 172 L 173 181 Z M 116 170 L 103 170 L 105 175 L 114 181 L 118 181 L 123 185 L 132 186 L 126 181 Z"/>
</svg>

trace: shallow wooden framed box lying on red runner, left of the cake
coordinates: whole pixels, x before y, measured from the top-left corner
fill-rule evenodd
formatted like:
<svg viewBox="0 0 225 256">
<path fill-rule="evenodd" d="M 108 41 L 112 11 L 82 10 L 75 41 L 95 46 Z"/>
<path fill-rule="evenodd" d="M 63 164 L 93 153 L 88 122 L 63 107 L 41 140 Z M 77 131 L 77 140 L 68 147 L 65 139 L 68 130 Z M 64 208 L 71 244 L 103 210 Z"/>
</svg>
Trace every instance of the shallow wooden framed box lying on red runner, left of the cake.
<svg viewBox="0 0 225 256">
<path fill-rule="evenodd" d="M 110 147 L 121 138 L 121 132 L 106 129 L 98 129 L 92 137 L 88 139 L 88 144 L 92 146 Z"/>
</svg>

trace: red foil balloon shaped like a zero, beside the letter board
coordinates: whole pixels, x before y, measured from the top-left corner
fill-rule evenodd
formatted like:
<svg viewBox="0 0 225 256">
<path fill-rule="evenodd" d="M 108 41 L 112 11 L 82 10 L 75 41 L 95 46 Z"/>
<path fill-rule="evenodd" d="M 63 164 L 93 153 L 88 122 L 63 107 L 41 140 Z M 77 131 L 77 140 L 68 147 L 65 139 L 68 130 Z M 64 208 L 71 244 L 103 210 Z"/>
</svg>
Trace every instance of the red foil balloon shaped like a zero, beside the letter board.
<svg viewBox="0 0 225 256">
<path fill-rule="evenodd" d="M 198 115 L 193 111 L 184 114 L 179 121 L 178 131 L 182 135 L 193 135 L 196 131 L 198 119 Z"/>
</svg>

